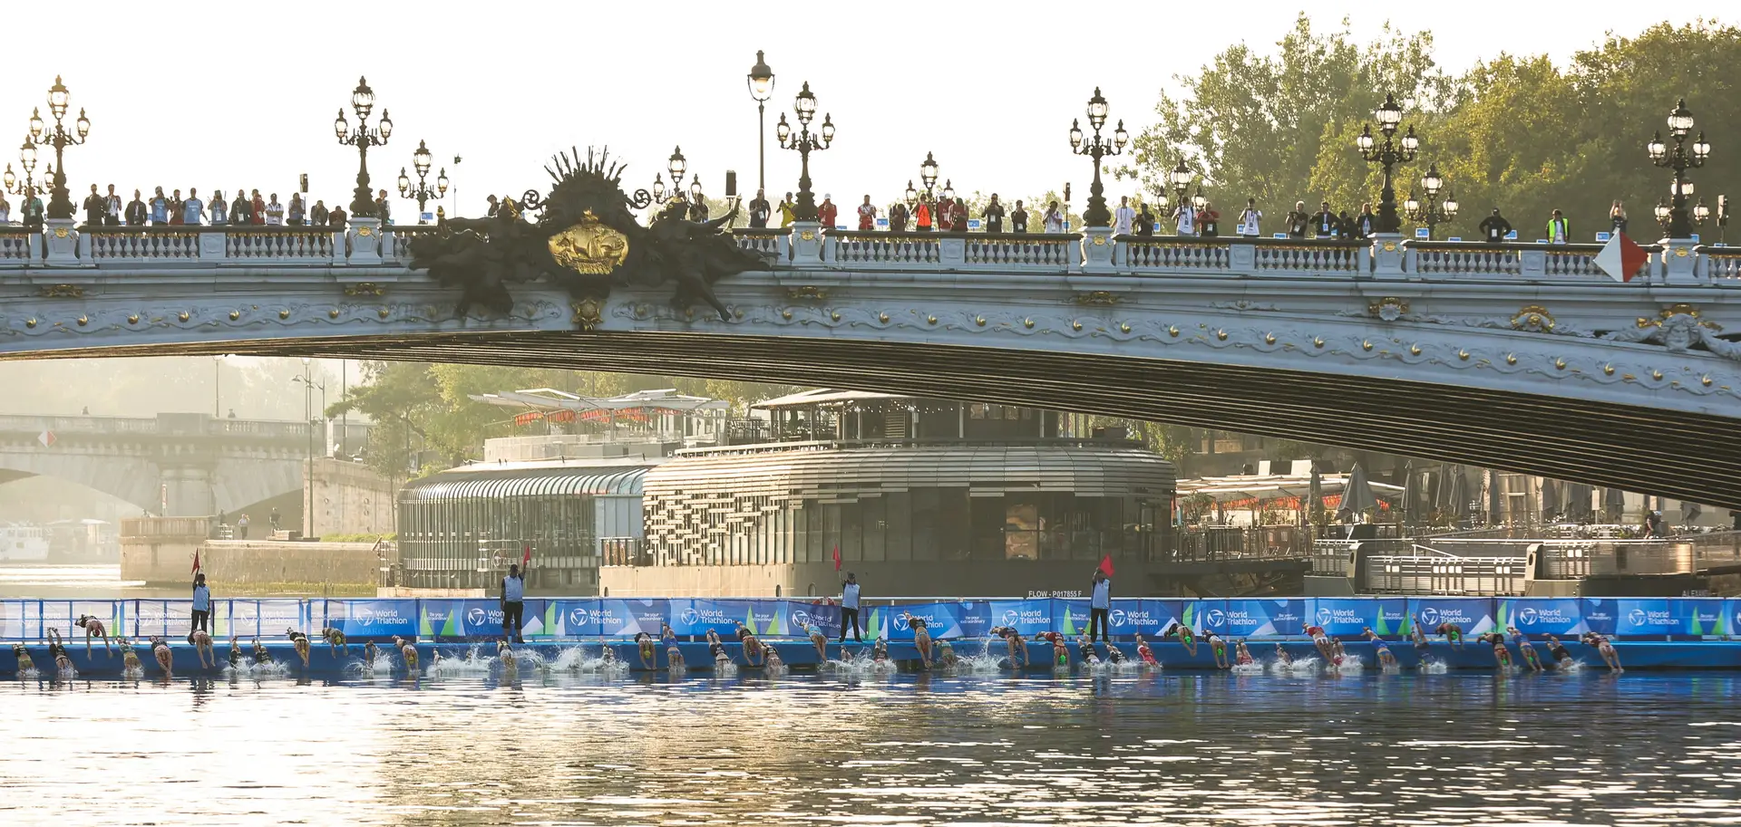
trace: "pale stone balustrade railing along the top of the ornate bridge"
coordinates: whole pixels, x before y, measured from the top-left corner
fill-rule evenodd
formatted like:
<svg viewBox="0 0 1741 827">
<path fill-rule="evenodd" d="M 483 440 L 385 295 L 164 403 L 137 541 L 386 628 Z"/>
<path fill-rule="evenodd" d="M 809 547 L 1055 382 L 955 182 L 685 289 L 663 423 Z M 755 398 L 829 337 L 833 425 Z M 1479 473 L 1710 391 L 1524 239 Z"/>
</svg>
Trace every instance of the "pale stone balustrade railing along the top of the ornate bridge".
<svg viewBox="0 0 1741 827">
<path fill-rule="evenodd" d="M 435 226 L 350 228 L 50 228 L 54 238 L 0 228 L 0 271 L 131 269 L 186 266 L 369 266 L 411 261 L 409 243 Z M 1374 241 L 1316 238 L 1109 236 L 1076 233 L 886 233 L 815 226 L 735 229 L 743 248 L 775 269 L 984 269 L 1193 276 L 1307 276 L 1356 280 L 1610 281 L 1596 266 L 1602 245 Z M 1111 248 L 1111 254 L 1106 250 Z M 56 250 L 64 250 L 57 254 Z M 799 250 L 810 250 L 799 255 Z M 1638 278 L 1741 287 L 1741 248 L 1692 241 L 1647 245 Z"/>
</svg>

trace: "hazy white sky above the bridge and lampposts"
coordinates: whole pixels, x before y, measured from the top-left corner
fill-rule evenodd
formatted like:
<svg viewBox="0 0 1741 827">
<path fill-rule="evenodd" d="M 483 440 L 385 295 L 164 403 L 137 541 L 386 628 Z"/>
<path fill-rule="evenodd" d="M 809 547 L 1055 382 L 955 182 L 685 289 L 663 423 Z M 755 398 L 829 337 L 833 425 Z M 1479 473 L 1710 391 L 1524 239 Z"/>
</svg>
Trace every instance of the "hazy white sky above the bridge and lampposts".
<svg viewBox="0 0 1741 827">
<path fill-rule="evenodd" d="M 813 156 L 817 189 L 886 203 L 926 151 L 961 191 L 1006 198 L 1072 181 L 1090 165 L 1065 134 L 1093 87 L 1137 132 L 1158 90 L 1233 42 L 1273 49 L 1309 7 L 1320 30 L 1351 17 L 1356 36 L 1386 23 L 1374 3 L 120 3 L 57 7 L 7 49 L 0 160 L 17 162 L 31 106 L 64 75 L 91 142 L 68 155 L 75 200 L 89 184 L 279 191 L 308 172 L 312 198 L 348 203 L 357 153 L 333 116 L 359 75 L 393 115 L 369 156 L 374 186 L 397 196 L 418 139 L 446 165 L 463 212 L 484 195 L 545 188 L 547 156 L 609 144 L 630 162 L 629 189 L 663 170 L 672 144 L 712 195 L 724 170 L 756 186 L 756 50 L 776 73 L 768 103 L 768 189 L 796 189 L 797 155 L 773 123 L 808 80 L 834 115 L 832 149 Z M 1102 12 L 1090 12 L 1102 9 Z M 1691 7 L 1638 2 L 1506 3 L 1480 10 L 1393 3 L 1389 21 L 1431 30 L 1440 63 L 1461 71 L 1501 50 L 1565 59 L 1605 31 L 1633 35 Z M 47 9 L 45 9 L 47 10 Z M 50 23 L 73 16 L 66 26 Z M 1664 99 L 1673 97 L 1664 90 Z M 1668 106 L 1668 104 L 1664 104 Z M 45 106 L 44 106 L 45 109 Z M 47 115 L 45 115 L 47 116 Z M 352 116 L 346 106 L 346 116 Z M 16 137 L 9 137 L 16 136 Z M 454 165 L 453 156 L 463 163 Z M 52 153 L 47 155 L 52 158 Z M 38 172 L 42 167 L 38 167 Z M 432 172 L 434 177 L 434 172 Z M 1112 191 L 1114 195 L 1118 189 Z M 434 207 L 430 207 L 434 210 Z M 453 212 L 449 208 L 449 212 Z M 395 203 L 395 217 L 413 207 Z"/>
</svg>

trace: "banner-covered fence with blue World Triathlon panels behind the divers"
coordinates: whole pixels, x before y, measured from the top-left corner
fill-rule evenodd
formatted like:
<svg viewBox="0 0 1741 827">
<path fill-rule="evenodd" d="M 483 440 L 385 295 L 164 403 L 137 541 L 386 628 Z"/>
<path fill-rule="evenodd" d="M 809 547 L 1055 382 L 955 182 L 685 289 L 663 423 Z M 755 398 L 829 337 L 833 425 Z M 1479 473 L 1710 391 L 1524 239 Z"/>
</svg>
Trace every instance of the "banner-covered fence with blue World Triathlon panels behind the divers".
<svg viewBox="0 0 1741 827">
<path fill-rule="evenodd" d="M 110 634 L 127 638 L 183 638 L 190 631 L 188 599 L 3 599 L 0 639 L 44 639 L 49 629 L 71 639 L 80 617 L 94 617 Z M 912 639 L 911 619 L 924 620 L 931 638 L 982 638 L 1008 625 L 1020 634 L 1057 631 L 1081 634 L 1092 615 L 1088 599 L 951 599 L 867 601 L 858 627 L 869 638 Z M 287 629 L 317 634 L 334 627 L 350 639 L 392 636 L 481 639 L 501 634 L 503 608 L 494 599 L 219 599 L 212 603 L 212 638 L 282 638 Z M 839 636 L 843 612 L 827 603 L 790 599 L 618 599 L 552 598 L 524 603 L 522 634 L 533 639 L 658 636 L 670 625 L 679 636 L 717 631 L 731 636 L 738 624 L 761 636 L 804 636 L 817 629 Z M 1332 636 L 1358 636 L 1365 629 L 1388 638 L 1407 636 L 1415 625 L 1431 632 L 1455 624 L 1464 634 L 1516 627 L 1527 634 L 1583 634 L 1621 638 L 1729 636 L 1741 627 L 1741 599 L 1734 598 L 1283 598 L 1283 599 L 1147 599 L 1111 601 L 1106 619 L 1114 636 L 1160 636 L 1172 624 L 1231 638 L 1301 634 L 1321 625 Z M 75 634 L 77 632 L 77 634 Z"/>
</svg>

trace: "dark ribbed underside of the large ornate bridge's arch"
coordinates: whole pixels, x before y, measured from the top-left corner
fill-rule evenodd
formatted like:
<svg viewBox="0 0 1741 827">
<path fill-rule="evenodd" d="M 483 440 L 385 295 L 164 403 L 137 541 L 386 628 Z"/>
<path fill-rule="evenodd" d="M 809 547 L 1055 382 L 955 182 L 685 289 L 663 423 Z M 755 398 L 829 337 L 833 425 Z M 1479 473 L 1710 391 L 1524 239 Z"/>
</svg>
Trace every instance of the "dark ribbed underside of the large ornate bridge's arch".
<svg viewBox="0 0 1741 827">
<path fill-rule="evenodd" d="M 1741 507 L 1738 422 L 1476 387 L 1130 356 L 684 332 L 430 334 L 47 358 L 240 353 L 564 367 L 909 393 L 1393 452 Z"/>
</svg>

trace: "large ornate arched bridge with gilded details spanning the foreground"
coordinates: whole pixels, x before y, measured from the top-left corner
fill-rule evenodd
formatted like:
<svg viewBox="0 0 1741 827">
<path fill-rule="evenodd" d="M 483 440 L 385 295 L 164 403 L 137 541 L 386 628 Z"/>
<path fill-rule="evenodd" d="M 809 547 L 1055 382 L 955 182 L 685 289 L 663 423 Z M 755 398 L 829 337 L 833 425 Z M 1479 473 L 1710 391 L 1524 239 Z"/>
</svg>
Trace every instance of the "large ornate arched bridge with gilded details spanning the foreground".
<svg viewBox="0 0 1741 827">
<path fill-rule="evenodd" d="M 50 224 L 56 224 L 50 221 Z M 724 314 L 409 268 L 435 228 L 0 231 L 0 358 L 289 354 L 573 367 L 1043 405 L 1741 507 L 1741 250 L 738 231 Z"/>
</svg>

